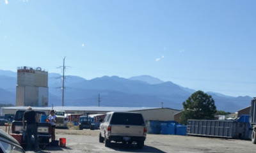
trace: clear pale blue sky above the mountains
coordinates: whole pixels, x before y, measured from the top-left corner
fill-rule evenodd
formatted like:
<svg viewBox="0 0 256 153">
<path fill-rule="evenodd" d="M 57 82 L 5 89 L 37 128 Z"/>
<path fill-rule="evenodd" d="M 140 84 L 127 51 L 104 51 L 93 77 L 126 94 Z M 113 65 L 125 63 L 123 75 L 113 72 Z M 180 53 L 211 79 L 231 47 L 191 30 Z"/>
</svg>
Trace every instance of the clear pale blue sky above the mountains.
<svg viewBox="0 0 256 153">
<path fill-rule="evenodd" d="M 0 0 L 0 69 L 256 96 L 256 1 Z"/>
</svg>

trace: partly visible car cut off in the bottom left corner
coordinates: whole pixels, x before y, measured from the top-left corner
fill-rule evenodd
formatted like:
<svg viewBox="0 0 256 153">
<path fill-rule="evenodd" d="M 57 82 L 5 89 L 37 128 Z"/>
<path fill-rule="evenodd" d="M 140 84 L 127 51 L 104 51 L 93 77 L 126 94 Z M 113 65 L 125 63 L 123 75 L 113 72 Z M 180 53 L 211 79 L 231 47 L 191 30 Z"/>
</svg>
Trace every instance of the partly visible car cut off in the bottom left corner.
<svg viewBox="0 0 256 153">
<path fill-rule="evenodd" d="M 19 142 L 3 130 L 0 130 L 0 152 L 25 153 Z"/>
</svg>

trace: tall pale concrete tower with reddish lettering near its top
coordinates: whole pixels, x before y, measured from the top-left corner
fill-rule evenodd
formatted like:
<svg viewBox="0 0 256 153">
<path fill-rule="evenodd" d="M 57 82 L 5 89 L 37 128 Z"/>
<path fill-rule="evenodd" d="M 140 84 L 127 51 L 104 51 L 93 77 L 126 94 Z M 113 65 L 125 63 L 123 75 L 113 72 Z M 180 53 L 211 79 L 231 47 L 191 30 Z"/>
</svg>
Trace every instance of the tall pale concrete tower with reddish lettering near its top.
<svg viewBox="0 0 256 153">
<path fill-rule="evenodd" d="M 48 106 L 48 72 L 41 68 L 17 70 L 16 106 Z"/>
</svg>

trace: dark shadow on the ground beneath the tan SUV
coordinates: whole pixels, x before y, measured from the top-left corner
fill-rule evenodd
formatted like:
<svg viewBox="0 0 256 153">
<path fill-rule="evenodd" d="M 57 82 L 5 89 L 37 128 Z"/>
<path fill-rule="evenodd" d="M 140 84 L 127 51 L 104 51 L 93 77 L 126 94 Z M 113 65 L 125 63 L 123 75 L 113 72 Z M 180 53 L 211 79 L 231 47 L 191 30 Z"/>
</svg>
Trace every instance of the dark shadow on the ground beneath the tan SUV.
<svg viewBox="0 0 256 153">
<path fill-rule="evenodd" d="M 136 144 L 123 144 L 123 143 L 111 143 L 110 149 L 114 149 L 116 151 L 121 152 L 161 152 L 165 153 L 162 150 L 159 150 L 155 147 L 150 147 L 148 145 L 144 145 L 142 149 L 138 149 Z"/>
</svg>

